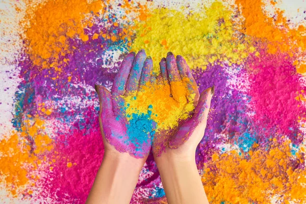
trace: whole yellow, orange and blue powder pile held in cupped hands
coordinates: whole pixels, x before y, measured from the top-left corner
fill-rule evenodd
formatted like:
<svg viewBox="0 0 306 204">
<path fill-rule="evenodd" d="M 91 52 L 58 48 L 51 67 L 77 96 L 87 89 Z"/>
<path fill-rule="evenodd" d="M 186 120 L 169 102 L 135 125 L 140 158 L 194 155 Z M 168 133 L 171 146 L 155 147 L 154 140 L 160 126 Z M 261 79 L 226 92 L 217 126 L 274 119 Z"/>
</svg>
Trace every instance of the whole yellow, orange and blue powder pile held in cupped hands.
<svg viewBox="0 0 306 204">
<path fill-rule="evenodd" d="M 163 84 L 162 78 L 158 78 L 155 83 L 147 82 L 141 86 L 137 96 L 132 94 L 123 97 L 127 107 L 125 110 L 127 122 L 133 124 L 138 120 L 138 125 L 145 130 L 148 126 L 151 128 L 154 125 L 151 141 L 157 154 L 168 146 L 179 122 L 190 117 L 194 110 L 195 94 L 190 93 L 186 80 L 189 79 L 183 78 L 180 81 Z M 187 100 L 187 97 L 190 97 L 190 100 Z M 140 122 L 144 116 L 144 122 Z M 147 131 L 141 130 L 141 132 L 147 134 Z"/>
</svg>

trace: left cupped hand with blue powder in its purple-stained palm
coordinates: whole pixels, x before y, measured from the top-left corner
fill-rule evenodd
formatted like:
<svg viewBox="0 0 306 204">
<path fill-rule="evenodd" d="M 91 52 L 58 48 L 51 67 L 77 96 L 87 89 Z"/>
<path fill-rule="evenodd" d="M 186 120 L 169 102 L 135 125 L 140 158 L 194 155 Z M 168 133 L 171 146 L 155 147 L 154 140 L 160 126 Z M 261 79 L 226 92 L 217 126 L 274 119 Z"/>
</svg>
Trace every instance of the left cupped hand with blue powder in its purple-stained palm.
<svg viewBox="0 0 306 204">
<path fill-rule="evenodd" d="M 154 134 L 154 121 L 147 122 L 143 115 L 126 113 L 129 104 L 125 97 L 135 97 L 140 84 L 149 80 L 152 60 L 144 50 L 128 54 L 121 63 L 111 92 L 95 85 L 99 96 L 99 125 L 103 135 L 105 151 L 127 152 L 135 158 L 146 158 L 151 148 L 151 135 Z M 149 107 L 148 111 L 149 111 Z M 142 125 L 143 122 L 148 125 Z"/>
</svg>

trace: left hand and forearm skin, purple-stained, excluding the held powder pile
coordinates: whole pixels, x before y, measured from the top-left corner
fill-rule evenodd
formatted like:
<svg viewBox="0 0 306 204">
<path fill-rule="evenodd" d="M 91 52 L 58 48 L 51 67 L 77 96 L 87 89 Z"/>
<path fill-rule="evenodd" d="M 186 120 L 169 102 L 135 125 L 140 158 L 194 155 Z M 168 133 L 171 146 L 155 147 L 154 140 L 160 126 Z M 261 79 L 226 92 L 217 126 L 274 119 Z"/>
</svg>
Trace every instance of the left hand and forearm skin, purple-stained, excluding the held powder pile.
<svg viewBox="0 0 306 204">
<path fill-rule="evenodd" d="M 126 143 L 130 135 L 126 130 L 124 106 L 120 96 L 130 93 L 136 95 L 139 83 L 149 77 L 151 70 L 152 60 L 146 57 L 144 50 L 140 50 L 136 56 L 135 53 L 130 53 L 122 61 L 111 92 L 103 86 L 95 87 L 99 96 L 99 126 L 105 152 L 87 204 L 130 203 L 151 142 L 147 135 L 147 143 L 140 144 L 140 150 L 136 150 L 134 144 Z"/>
</svg>

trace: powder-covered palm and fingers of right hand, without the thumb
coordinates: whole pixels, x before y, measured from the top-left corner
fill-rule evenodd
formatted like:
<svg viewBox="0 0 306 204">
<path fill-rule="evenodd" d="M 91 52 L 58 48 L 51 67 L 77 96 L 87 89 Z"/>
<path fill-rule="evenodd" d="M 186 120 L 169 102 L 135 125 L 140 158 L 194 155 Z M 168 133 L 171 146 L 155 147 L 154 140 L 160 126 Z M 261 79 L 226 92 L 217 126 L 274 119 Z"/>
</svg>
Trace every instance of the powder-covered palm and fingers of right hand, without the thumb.
<svg viewBox="0 0 306 204">
<path fill-rule="evenodd" d="M 189 139 L 194 130 L 199 92 L 186 61 L 177 56 L 168 55 L 160 62 L 161 74 L 158 77 L 157 89 L 163 89 L 172 100 L 175 109 L 180 110 L 175 116 L 175 125 L 168 125 L 157 131 L 154 136 L 153 151 L 161 155 L 167 148 L 177 148 Z M 172 114 L 172 112 L 168 113 Z M 166 119 L 167 120 L 167 119 Z"/>
</svg>

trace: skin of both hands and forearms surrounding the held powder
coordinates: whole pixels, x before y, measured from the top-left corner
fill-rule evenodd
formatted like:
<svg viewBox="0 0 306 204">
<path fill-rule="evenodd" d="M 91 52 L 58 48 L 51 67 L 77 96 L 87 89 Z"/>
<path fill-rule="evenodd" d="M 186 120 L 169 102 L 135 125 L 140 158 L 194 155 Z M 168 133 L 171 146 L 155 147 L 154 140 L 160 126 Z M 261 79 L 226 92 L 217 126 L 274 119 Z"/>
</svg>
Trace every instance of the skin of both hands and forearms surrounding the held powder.
<svg viewBox="0 0 306 204">
<path fill-rule="evenodd" d="M 136 56 L 130 53 L 123 60 L 111 92 L 102 86 L 95 87 L 100 102 L 99 125 L 105 155 L 86 203 L 129 203 L 150 151 L 150 135 L 145 136 L 147 142 L 140 144 L 138 150 L 127 142 L 131 136 L 126 129 L 127 118 L 121 96 L 137 96 L 139 87 L 148 81 L 152 88 L 166 86 L 171 92 L 175 89 L 173 83 L 178 80 L 188 89 L 185 105 L 192 104 L 195 109 L 190 113 L 191 117 L 152 142 L 154 157 L 168 203 L 208 203 L 195 164 L 195 150 L 205 132 L 214 87 L 199 94 L 181 56 L 175 59 L 172 53 L 168 54 L 162 59 L 160 68 L 161 73 L 152 76 L 152 60 L 140 50 Z M 174 93 L 169 97 L 179 101 Z M 160 142 L 167 144 L 163 151 L 155 148 Z"/>
</svg>

